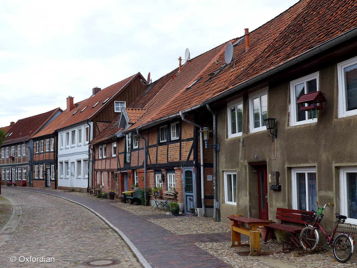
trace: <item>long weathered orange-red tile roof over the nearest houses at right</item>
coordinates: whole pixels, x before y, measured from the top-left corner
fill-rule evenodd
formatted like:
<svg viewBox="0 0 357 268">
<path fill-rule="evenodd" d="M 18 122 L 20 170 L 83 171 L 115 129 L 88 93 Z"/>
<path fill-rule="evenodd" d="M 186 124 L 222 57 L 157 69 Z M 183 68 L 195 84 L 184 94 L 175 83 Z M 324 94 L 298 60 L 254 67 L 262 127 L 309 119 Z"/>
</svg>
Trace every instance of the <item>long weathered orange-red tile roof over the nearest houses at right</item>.
<svg viewBox="0 0 357 268">
<path fill-rule="evenodd" d="M 235 66 L 232 63 L 216 76 L 210 75 L 223 65 L 228 42 L 191 59 L 182 72 L 166 83 L 144 108 L 147 113 L 130 129 L 155 120 L 177 115 L 231 88 L 272 70 L 357 25 L 357 1 L 301 0 L 276 18 L 268 21 L 249 36 L 250 49 L 243 40 L 234 46 Z M 235 44 L 238 40 L 230 40 Z M 192 88 L 187 87 L 202 77 Z M 223 96 L 222 96 L 223 97 Z"/>
</svg>

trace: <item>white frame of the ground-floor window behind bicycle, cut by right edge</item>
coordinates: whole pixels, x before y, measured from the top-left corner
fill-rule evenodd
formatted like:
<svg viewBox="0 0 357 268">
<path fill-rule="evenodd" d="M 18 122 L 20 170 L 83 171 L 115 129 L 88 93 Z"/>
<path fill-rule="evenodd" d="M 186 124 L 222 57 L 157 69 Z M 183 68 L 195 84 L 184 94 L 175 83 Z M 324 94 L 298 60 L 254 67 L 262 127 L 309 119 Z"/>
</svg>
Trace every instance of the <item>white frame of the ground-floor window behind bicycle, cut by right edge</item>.
<svg viewBox="0 0 357 268">
<path fill-rule="evenodd" d="M 352 167 L 341 167 L 340 168 L 340 202 L 341 202 L 341 208 L 340 208 L 340 214 L 341 215 L 346 215 L 348 217 L 348 206 L 349 206 L 349 198 L 348 198 L 348 192 L 347 192 L 347 177 L 346 173 L 357 173 L 357 166 L 352 166 Z M 353 218 L 347 218 L 346 222 L 352 223 L 352 224 L 357 224 L 357 219 Z"/>
</svg>

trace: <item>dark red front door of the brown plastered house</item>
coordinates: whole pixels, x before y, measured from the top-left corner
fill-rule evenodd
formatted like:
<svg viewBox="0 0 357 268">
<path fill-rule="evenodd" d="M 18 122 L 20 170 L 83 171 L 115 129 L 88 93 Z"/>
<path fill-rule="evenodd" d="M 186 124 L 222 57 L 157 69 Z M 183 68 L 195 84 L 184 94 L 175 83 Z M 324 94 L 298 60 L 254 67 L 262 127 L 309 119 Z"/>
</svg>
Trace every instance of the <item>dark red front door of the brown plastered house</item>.
<svg viewBox="0 0 357 268">
<path fill-rule="evenodd" d="M 268 178 L 267 166 L 258 166 L 259 219 L 268 219 Z"/>
</svg>

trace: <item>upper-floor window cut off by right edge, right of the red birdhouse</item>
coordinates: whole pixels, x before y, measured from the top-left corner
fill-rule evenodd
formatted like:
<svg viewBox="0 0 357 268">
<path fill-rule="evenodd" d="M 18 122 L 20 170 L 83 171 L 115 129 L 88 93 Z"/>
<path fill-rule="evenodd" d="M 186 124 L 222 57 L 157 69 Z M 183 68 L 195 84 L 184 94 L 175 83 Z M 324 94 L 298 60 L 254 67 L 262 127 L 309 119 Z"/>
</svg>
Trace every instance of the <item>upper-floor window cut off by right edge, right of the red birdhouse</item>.
<svg viewBox="0 0 357 268">
<path fill-rule="evenodd" d="M 338 117 L 357 114 L 357 57 L 337 64 Z"/>
</svg>

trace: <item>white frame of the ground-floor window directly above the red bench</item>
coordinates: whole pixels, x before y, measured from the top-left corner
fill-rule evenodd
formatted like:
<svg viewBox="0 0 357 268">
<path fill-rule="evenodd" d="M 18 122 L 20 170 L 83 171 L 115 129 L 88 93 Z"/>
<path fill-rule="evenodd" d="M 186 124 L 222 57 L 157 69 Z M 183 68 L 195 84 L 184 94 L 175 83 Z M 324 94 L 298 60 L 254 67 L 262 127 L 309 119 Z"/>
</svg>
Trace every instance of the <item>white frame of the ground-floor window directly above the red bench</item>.
<svg viewBox="0 0 357 268">
<path fill-rule="evenodd" d="M 297 167 L 297 168 L 291 168 L 291 201 L 292 201 L 292 208 L 293 209 L 299 209 L 298 208 L 298 194 L 297 194 L 297 173 L 305 173 L 305 184 L 306 184 L 306 210 L 310 211 L 311 209 L 316 210 L 317 207 L 310 208 L 309 207 L 309 202 L 308 198 L 310 196 L 309 194 L 309 189 L 307 187 L 308 184 L 308 177 L 307 173 L 316 173 L 316 167 Z M 316 173 L 316 195 L 317 195 L 317 173 Z M 300 196 L 299 196 L 300 198 Z M 316 196 L 317 198 L 317 196 Z"/>
</svg>

